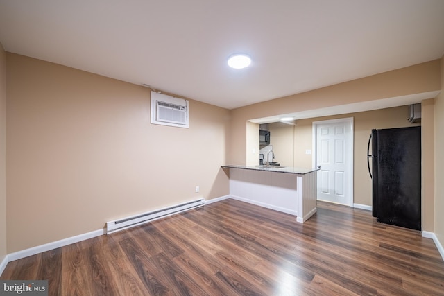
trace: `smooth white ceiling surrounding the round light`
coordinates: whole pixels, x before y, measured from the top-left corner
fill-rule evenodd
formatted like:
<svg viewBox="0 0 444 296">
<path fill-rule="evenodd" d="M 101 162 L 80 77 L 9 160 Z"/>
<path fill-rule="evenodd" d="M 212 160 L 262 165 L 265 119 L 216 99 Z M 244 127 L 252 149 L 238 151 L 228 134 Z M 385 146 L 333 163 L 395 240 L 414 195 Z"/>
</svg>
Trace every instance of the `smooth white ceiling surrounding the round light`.
<svg viewBox="0 0 444 296">
<path fill-rule="evenodd" d="M 0 42 L 232 109 L 441 58 L 444 1 L 0 0 Z"/>
</svg>

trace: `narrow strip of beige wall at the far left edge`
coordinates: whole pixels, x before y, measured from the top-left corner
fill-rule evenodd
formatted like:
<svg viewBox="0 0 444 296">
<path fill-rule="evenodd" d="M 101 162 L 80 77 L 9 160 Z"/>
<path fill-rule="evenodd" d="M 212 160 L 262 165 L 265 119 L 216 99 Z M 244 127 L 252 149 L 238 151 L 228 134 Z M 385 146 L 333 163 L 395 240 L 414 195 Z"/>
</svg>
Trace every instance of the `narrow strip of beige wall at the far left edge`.
<svg viewBox="0 0 444 296">
<path fill-rule="evenodd" d="M 0 263 L 6 254 L 6 53 L 0 43 Z"/>
</svg>

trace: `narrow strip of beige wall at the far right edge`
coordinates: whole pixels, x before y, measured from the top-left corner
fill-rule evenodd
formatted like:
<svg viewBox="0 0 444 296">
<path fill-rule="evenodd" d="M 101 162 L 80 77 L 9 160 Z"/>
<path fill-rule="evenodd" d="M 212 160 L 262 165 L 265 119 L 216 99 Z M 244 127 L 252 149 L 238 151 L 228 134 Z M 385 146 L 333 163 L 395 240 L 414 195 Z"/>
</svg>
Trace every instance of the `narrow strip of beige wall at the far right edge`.
<svg viewBox="0 0 444 296">
<path fill-rule="evenodd" d="M 441 58 L 441 85 L 444 87 L 444 57 Z M 444 246 L 444 92 L 435 101 L 435 204 L 434 233 Z"/>
</svg>

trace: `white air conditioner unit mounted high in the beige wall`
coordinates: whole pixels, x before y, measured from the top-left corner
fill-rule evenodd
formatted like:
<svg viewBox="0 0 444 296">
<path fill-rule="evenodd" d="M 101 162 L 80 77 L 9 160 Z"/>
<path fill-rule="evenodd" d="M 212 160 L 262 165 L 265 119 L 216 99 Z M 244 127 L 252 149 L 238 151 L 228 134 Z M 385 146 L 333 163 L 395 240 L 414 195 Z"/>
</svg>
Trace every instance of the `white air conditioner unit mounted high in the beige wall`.
<svg viewBox="0 0 444 296">
<path fill-rule="evenodd" d="M 151 92 L 151 123 L 188 128 L 188 100 Z"/>
</svg>

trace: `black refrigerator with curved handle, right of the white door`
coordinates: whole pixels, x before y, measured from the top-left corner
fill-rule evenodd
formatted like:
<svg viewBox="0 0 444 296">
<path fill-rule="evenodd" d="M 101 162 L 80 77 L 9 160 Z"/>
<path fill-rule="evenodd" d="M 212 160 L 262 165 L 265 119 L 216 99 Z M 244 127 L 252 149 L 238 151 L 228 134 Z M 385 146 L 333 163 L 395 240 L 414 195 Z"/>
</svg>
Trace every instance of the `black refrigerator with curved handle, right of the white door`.
<svg viewBox="0 0 444 296">
<path fill-rule="evenodd" d="M 367 156 L 373 217 L 421 230 L 421 127 L 372 130 Z"/>
</svg>

